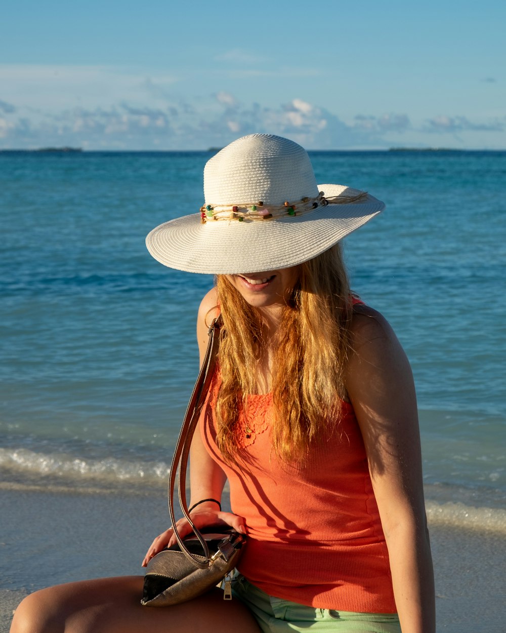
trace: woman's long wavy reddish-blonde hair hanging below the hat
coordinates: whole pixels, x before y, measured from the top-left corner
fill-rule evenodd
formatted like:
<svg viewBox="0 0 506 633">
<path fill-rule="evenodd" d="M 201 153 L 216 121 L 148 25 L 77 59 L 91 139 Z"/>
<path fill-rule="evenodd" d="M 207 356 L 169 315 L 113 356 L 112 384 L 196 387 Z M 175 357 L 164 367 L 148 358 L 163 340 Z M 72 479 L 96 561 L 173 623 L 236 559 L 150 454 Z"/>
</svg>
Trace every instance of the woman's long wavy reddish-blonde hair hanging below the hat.
<svg viewBox="0 0 506 633">
<path fill-rule="evenodd" d="M 235 424 L 266 353 L 262 317 L 218 275 L 223 337 L 219 348 L 221 385 L 216 402 L 218 446 L 236 461 Z M 285 461 L 304 461 L 345 392 L 343 368 L 349 351 L 352 303 L 340 244 L 299 266 L 275 339 L 273 361 L 273 448 Z"/>
</svg>

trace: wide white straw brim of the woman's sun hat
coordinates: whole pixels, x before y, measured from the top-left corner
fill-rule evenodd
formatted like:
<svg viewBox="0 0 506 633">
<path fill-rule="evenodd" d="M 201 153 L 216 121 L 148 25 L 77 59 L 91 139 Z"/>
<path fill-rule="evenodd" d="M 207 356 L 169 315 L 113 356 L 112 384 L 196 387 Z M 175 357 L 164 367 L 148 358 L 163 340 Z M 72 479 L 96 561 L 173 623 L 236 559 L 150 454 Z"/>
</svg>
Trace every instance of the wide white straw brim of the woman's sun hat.
<svg viewBox="0 0 506 633">
<path fill-rule="evenodd" d="M 325 197 L 355 196 L 343 185 L 318 185 Z M 146 237 L 149 253 L 164 266 L 192 273 L 233 275 L 296 266 L 311 260 L 385 208 L 373 196 L 319 206 L 300 216 L 202 224 L 201 214 L 165 222 Z"/>
</svg>

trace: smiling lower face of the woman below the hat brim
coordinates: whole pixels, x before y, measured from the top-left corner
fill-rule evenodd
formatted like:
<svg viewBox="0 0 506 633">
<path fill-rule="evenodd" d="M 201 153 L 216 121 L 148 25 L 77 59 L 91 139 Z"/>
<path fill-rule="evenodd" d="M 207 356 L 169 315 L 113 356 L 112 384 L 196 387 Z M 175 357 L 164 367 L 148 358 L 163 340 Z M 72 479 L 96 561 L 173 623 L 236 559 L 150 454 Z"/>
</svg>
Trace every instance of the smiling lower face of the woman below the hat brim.
<svg viewBox="0 0 506 633">
<path fill-rule="evenodd" d="M 225 275 L 233 287 L 254 308 L 283 307 L 299 279 L 299 267 L 261 273 Z"/>
</svg>

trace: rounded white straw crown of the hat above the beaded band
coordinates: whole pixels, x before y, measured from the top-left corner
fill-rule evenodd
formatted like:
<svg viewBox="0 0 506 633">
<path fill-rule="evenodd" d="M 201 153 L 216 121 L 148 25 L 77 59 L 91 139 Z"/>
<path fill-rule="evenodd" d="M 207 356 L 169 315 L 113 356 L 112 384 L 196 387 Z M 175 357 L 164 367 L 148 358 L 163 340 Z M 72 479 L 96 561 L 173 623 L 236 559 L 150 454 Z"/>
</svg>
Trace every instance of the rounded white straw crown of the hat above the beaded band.
<svg viewBox="0 0 506 633">
<path fill-rule="evenodd" d="M 318 196 L 303 147 L 273 134 L 250 134 L 224 147 L 204 168 L 206 204 L 283 204 Z"/>
</svg>

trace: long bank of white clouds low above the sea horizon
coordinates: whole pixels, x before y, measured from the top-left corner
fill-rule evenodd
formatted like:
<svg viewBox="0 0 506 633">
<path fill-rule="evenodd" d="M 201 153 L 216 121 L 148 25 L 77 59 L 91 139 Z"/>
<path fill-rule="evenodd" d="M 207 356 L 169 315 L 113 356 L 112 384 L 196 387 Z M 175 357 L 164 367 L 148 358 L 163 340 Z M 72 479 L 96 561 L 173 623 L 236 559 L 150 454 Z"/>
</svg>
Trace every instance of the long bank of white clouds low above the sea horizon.
<svg viewBox="0 0 506 633">
<path fill-rule="evenodd" d="M 476 132 L 488 134 L 506 128 L 506 119 L 476 123 L 464 116 L 448 115 L 415 125 L 404 113 L 362 114 L 345 123 L 335 113 L 300 97 L 268 107 L 241 103 L 225 91 L 192 100 L 132 103 L 120 99 L 110 106 L 73 106 L 58 111 L 34 111 L 11 106 L 9 101 L 0 101 L 0 106 L 0 147 L 4 148 L 205 149 L 224 146 L 238 135 L 252 132 L 280 134 L 308 149 L 383 148 L 398 142 L 409 145 L 410 139 L 415 139 L 411 142 L 416 146 L 429 146 L 428 132 L 432 136 L 446 132 L 462 146 L 464 141 L 455 135 L 457 132 L 465 140 L 464 134 L 469 138 Z"/>
</svg>

